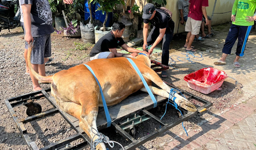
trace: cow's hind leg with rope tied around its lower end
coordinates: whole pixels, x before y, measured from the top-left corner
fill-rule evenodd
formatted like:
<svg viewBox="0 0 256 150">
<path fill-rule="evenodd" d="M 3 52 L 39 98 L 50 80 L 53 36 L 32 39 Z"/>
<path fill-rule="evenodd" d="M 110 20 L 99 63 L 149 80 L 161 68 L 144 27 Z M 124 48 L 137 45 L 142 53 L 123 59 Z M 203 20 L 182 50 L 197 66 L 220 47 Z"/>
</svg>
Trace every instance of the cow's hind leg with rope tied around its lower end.
<svg viewBox="0 0 256 150">
<path fill-rule="evenodd" d="M 98 93 L 98 94 L 96 94 Z M 96 118 L 98 114 L 98 100 L 99 100 L 99 92 L 83 94 L 83 96 L 79 96 L 80 102 L 82 104 L 82 112 L 80 117 L 79 126 L 81 129 L 85 131 L 85 133 L 92 139 L 94 137 L 94 133 L 96 133 L 97 125 L 96 125 Z M 85 101 L 86 100 L 86 101 Z M 95 130 L 92 131 L 92 128 Z M 94 132 L 94 133 L 93 133 Z M 99 138 L 99 136 L 95 136 L 95 139 Z M 106 150 L 104 144 L 98 144 L 96 147 L 97 150 Z"/>
</svg>

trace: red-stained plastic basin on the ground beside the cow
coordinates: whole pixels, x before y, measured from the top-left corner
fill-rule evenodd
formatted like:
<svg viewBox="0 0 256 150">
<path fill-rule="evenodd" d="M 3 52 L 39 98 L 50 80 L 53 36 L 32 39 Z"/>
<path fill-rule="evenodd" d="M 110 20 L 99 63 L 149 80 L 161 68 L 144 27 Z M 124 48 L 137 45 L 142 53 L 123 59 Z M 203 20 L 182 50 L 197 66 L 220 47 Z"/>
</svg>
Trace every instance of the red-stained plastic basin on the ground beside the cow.
<svg viewBox="0 0 256 150">
<path fill-rule="evenodd" d="M 212 67 L 203 68 L 184 77 L 188 87 L 198 92 L 209 94 L 221 87 L 223 81 L 228 77 L 225 71 Z"/>
</svg>

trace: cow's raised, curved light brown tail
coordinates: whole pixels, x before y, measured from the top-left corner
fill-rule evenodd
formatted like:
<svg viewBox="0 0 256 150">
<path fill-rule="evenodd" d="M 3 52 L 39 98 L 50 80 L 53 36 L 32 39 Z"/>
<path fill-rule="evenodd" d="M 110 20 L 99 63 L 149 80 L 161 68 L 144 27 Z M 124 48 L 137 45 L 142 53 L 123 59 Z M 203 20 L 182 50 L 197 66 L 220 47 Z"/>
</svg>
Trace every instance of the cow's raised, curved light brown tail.
<svg viewBox="0 0 256 150">
<path fill-rule="evenodd" d="M 28 55 L 27 55 L 29 72 L 31 72 L 33 76 L 36 79 L 40 80 L 41 82 L 51 83 L 53 81 L 52 76 L 41 76 L 37 72 L 35 72 L 34 69 L 32 68 L 31 60 L 30 60 L 32 49 L 33 49 L 33 43 L 30 42 L 30 44 L 28 45 Z"/>
</svg>

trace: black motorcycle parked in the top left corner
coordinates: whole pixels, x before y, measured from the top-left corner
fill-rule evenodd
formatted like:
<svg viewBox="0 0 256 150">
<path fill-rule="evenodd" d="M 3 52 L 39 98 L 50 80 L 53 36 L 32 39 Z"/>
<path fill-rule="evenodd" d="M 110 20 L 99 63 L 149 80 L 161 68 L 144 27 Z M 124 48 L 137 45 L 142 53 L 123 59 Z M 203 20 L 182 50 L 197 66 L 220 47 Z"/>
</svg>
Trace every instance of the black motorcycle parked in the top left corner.
<svg viewBox="0 0 256 150">
<path fill-rule="evenodd" d="M 15 14 L 14 9 L 17 6 Z M 20 26 L 19 0 L 0 0 L 0 32 L 2 29 L 14 29 Z"/>
</svg>

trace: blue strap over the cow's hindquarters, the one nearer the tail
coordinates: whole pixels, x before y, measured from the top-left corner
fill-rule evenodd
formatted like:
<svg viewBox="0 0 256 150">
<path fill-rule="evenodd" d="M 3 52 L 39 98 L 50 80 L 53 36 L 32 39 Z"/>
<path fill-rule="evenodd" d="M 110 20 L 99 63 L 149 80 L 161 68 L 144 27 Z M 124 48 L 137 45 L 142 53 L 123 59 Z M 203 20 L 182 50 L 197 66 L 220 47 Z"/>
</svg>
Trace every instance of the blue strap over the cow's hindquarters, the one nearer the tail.
<svg viewBox="0 0 256 150">
<path fill-rule="evenodd" d="M 102 92 L 102 88 L 101 88 L 101 86 L 100 86 L 100 82 L 99 82 L 98 79 L 96 78 L 96 76 L 95 76 L 93 70 L 91 69 L 91 67 L 88 66 L 87 64 L 84 64 L 84 65 L 89 69 L 89 71 L 91 72 L 91 74 L 93 74 L 93 76 L 95 77 L 95 79 L 96 79 L 96 81 L 97 81 L 97 83 L 98 83 L 98 85 L 99 85 L 99 87 L 100 87 L 100 94 L 101 94 L 101 98 L 102 98 L 102 103 L 103 103 L 103 107 L 104 107 L 104 110 L 105 110 L 106 119 L 107 119 L 107 122 L 108 122 L 107 127 L 110 127 L 110 125 L 111 125 L 111 118 L 110 118 L 108 106 L 106 105 L 105 97 L 104 97 L 103 92 Z"/>
</svg>

